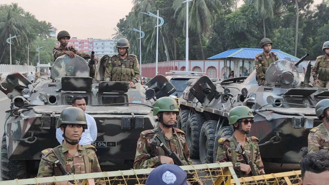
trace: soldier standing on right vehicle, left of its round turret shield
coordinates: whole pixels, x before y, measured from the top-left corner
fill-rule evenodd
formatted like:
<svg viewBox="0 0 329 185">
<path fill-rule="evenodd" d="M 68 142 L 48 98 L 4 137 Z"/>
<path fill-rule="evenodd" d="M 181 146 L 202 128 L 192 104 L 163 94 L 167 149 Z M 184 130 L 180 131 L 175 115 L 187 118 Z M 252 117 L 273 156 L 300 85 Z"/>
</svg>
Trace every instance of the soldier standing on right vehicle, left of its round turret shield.
<svg viewBox="0 0 329 185">
<path fill-rule="evenodd" d="M 272 41 L 269 38 L 264 38 L 259 43 L 259 46 L 263 49 L 263 52 L 256 55 L 255 57 L 255 69 L 256 69 L 256 80 L 258 85 L 267 85 L 265 80 L 265 73 L 268 66 L 279 60 L 275 52 L 271 52 Z"/>
</svg>

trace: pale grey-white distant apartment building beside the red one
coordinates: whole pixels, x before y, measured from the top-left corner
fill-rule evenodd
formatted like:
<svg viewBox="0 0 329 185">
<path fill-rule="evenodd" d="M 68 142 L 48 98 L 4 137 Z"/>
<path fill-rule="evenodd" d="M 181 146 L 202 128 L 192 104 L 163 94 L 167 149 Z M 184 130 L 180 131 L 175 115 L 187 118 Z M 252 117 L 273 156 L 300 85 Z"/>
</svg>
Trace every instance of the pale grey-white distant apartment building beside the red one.
<svg viewBox="0 0 329 185">
<path fill-rule="evenodd" d="M 117 53 L 114 49 L 114 40 L 109 39 L 94 39 L 93 49 L 96 56 L 112 55 Z"/>
</svg>

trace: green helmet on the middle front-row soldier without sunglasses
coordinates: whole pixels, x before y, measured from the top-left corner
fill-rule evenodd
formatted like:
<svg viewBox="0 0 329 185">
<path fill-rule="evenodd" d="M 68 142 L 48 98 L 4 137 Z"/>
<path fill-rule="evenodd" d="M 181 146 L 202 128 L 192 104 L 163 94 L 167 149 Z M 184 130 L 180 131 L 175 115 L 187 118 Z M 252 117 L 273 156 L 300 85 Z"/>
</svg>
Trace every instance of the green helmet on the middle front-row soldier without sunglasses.
<svg viewBox="0 0 329 185">
<path fill-rule="evenodd" d="M 160 112 L 179 112 L 178 104 L 175 99 L 170 97 L 162 97 L 159 98 L 155 104 L 153 109 L 153 115 L 157 115 Z"/>
</svg>

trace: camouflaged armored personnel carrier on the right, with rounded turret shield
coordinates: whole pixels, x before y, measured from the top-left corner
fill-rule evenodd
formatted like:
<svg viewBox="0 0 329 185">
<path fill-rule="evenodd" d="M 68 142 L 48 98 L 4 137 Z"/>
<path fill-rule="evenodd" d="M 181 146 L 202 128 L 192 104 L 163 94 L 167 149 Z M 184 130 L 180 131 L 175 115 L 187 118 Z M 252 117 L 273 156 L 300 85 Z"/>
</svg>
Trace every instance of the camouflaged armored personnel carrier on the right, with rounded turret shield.
<svg viewBox="0 0 329 185">
<path fill-rule="evenodd" d="M 181 110 L 177 125 L 186 128 L 191 158 L 201 163 L 215 161 L 217 140 L 231 137 L 228 125 L 232 108 L 240 105 L 253 110 L 250 135 L 260 142 L 262 159 L 277 163 L 298 163 L 307 153 L 309 130 L 321 123 L 315 114 L 318 101 L 329 97 L 328 88 L 309 85 L 311 64 L 303 81 L 302 69 L 287 60 L 272 63 L 266 71 L 268 86 L 258 86 L 256 71 L 249 77 L 234 77 L 213 82 L 207 76 L 191 79 L 179 99 Z"/>
</svg>

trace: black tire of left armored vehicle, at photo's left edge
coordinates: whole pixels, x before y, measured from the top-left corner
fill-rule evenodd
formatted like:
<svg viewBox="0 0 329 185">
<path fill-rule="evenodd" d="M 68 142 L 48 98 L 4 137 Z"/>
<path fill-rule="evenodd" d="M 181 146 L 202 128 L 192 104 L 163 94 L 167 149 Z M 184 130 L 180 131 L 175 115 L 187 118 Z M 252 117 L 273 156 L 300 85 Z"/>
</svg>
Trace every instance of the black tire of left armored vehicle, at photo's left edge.
<svg viewBox="0 0 329 185">
<path fill-rule="evenodd" d="M 9 160 L 7 153 L 6 135 L 1 144 L 1 177 L 2 180 L 26 179 L 26 162 L 23 160 Z"/>
</svg>

